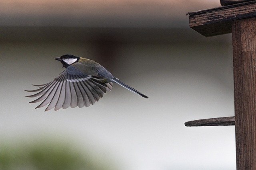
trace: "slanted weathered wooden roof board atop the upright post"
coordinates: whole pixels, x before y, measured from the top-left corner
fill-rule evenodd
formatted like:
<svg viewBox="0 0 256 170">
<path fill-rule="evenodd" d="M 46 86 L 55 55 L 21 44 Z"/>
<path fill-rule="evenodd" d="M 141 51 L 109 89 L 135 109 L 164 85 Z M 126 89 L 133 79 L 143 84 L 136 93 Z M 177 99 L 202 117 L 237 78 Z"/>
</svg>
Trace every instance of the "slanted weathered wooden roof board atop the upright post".
<svg viewBox="0 0 256 170">
<path fill-rule="evenodd" d="M 256 1 L 190 12 L 188 15 L 189 26 L 206 37 L 231 33 L 232 21 L 256 17 Z"/>
</svg>

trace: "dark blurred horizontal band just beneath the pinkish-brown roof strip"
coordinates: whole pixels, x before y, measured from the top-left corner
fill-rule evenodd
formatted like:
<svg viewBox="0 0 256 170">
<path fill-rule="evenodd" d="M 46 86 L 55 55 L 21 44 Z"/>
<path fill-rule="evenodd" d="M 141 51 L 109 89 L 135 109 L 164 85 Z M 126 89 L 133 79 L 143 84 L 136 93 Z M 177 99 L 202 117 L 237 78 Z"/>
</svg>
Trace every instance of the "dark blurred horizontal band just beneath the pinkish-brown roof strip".
<svg viewBox="0 0 256 170">
<path fill-rule="evenodd" d="M 229 43 L 228 35 L 200 36 L 190 28 L 19 27 L 0 26 L 0 41 L 60 41 L 89 43 Z"/>
</svg>

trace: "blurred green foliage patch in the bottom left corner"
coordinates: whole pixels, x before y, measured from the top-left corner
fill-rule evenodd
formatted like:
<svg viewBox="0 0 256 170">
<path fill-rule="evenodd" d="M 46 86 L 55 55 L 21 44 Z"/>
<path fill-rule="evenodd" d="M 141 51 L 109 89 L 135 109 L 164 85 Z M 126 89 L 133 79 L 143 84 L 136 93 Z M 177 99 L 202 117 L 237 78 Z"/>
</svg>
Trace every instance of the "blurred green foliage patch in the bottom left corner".
<svg viewBox="0 0 256 170">
<path fill-rule="evenodd" d="M 113 170 L 107 160 L 63 142 L 0 145 L 0 170 Z"/>
</svg>

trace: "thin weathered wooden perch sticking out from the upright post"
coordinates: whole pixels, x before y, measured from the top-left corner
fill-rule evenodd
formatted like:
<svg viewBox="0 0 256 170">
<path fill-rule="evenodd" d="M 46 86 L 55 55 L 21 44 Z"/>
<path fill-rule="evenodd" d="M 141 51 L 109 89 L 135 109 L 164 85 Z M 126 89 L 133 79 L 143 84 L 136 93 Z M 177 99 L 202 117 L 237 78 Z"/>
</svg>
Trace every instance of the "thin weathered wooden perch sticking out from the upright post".
<svg viewBox="0 0 256 170">
<path fill-rule="evenodd" d="M 234 126 L 235 117 L 218 117 L 211 119 L 199 119 L 188 121 L 185 123 L 185 126 Z"/>
</svg>

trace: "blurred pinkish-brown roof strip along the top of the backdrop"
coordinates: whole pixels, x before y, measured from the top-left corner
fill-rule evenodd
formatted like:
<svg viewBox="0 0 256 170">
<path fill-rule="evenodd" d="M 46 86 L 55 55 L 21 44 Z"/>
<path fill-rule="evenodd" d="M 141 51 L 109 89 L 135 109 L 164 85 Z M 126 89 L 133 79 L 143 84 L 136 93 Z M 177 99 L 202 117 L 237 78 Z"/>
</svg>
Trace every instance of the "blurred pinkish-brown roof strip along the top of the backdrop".
<svg viewBox="0 0 256 170">
<path fill-rule="evenodd" d="M 0 26 L 179 27 L 218 0 L 1 0 Z"/>
</svg>

